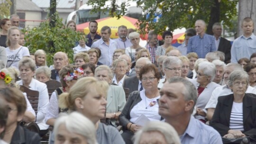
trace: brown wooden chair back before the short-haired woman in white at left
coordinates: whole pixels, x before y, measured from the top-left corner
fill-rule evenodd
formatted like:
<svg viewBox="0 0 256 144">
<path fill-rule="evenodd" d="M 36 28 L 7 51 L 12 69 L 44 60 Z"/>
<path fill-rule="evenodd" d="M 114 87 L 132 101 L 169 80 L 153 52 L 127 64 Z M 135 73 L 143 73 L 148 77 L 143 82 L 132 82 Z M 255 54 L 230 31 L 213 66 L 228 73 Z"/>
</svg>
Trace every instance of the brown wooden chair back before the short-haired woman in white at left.
<svg viewBox="0 0 256 144">
<path fill-rule="evenodd" d="M 37 115 L 37 108 L 38 108 L 38 99 L 39 99 L 39 91 L 37 90 L 30 90 L 29 88 L 20 85 L 19 90 L 22 92 L 27 93 L 27 99 L 29 100 L 32 108 L 35 110 L 36 115 Z"/>
</svg>

